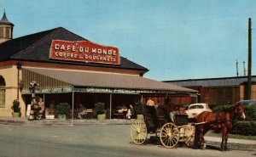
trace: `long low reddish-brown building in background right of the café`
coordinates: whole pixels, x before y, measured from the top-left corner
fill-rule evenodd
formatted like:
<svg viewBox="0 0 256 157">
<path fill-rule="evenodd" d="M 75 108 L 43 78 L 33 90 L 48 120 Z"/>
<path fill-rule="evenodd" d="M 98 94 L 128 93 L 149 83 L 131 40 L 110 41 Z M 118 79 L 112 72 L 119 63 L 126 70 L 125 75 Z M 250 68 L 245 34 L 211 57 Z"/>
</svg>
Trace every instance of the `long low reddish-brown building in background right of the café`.
<svg viewBox="0 0 256 157">
<path fill-rule="evenodd" d="M 247 94 L 247 76 L 164 81 L 197 90 L 198 102 L 207 104 L 236 104 Z M 256 76 L 252 76 L 251 98 L 256 99 Z"/>
</svg>

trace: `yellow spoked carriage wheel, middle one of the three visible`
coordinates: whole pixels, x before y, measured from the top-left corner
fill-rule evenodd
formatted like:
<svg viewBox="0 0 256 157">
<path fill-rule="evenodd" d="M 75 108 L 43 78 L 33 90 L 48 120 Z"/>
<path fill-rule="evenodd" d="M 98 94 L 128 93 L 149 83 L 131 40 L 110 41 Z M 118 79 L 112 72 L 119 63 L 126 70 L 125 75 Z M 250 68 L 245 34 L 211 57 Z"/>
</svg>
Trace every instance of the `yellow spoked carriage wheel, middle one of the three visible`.
<svg viewBox="0 0 256 157">
<path fill-rule="evenodd" d="M 160 130 L 160 141 L 168 149 L 177 145 L 179 140 L 179 131 L 177 126 L 172 123 L 166 123 Z"/>
</svg>

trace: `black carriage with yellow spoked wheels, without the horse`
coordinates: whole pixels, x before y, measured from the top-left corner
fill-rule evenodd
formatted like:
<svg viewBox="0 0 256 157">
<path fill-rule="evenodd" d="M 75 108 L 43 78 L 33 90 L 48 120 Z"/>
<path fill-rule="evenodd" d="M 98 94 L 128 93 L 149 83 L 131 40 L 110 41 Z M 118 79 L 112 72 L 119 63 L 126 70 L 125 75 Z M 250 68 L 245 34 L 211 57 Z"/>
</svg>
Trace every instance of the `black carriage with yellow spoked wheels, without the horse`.
<svg viewBox="0 0 256 157">
<path fill-rule="evenodd" d="M 178 142 L 191 146 L 195 126 L 188 123 L 188 115 L 176 114 L 172 121 L 165 108 L 143 106 L 143 120 L 131 123 L 131 140 L 140 145 L 145 143 L 150 134 L 155 135 L 166 148 L 174 148 Z"/>
</svg>

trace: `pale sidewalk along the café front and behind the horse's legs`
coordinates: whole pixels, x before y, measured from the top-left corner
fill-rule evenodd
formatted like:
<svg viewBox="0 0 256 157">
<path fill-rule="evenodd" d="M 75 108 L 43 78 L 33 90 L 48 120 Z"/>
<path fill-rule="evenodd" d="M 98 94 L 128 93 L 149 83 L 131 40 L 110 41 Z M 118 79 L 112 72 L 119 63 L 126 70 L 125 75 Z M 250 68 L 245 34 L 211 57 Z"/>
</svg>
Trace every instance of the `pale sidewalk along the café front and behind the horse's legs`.
<svg viewBox="0 0 256 157">
<path fill-rule="evenodd" d="M 113 119 L 113 120 L 42 120 L 28 121 L 27 118 L 0 117 L 0 125 L 10 126 L 83 126 L 83 125 L 131 125 L 133 120 Z M 221 137 L 205 137 L 205 140 L 212 142 L 221 142 Z M 229 138 L 228 143 L 256 144 L 256 140 Z"/>
</svg>

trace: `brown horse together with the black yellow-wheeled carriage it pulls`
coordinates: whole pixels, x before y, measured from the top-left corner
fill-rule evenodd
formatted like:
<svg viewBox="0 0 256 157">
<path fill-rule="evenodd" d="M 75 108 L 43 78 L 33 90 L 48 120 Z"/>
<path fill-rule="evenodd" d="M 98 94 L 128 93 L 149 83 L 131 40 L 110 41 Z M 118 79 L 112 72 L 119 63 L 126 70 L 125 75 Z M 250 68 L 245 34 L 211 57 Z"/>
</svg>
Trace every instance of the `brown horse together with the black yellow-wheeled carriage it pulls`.
<svg viewBox="0 0 256 157">
<path fill-rule="evenodd" d="M 131 139 L 133 143 L 143 144 L 148 134 L 154 133 L 166 148 L 173 148 L 178 142 L 183 141 L 189 147 L 205 149 L 204 135 L 210 129 L 221 129 L 220 149 L 228 150 L 227 141 L 236 115 L 240 115 L 241 119 L 246 118 L 242 104 L 235 104 L 218 113 L 202 112 L 196 116 L 194 123 L 189 124 L 188 115 L 177 114 L 171 121 L 165 108 L 154 109 L 151 106 L 143 106 L 143 120 L 135 120 L 131 123 Z"/>
</svg>

